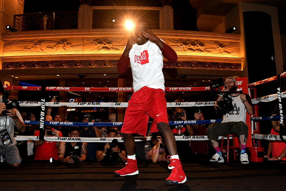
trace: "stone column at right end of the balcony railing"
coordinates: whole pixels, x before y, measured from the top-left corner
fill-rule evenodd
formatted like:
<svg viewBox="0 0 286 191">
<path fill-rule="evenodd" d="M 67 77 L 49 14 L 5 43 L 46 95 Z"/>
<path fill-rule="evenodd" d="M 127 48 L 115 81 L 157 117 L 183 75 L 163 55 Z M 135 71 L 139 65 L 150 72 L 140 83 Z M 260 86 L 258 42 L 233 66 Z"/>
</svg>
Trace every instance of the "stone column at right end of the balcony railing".
<svg viewBox="0 0 286 191">
<path fill-rule="evenodd" d="M 78 29 L 91 29 L 91 7 L 89 0 L 81 0 L 80 8 L 78 10 Z"/>
</svg>

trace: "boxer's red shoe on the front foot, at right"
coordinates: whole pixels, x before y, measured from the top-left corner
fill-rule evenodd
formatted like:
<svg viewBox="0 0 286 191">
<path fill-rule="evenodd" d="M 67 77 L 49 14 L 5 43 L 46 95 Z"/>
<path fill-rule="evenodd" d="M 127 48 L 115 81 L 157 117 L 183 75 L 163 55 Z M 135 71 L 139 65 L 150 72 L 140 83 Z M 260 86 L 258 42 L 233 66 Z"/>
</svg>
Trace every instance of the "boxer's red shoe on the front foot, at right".
<svg viewBox="0 0 286 191">
<path fill-rule="evenodd" d="M 170 156 L 168 156 L 169 159 Z M 170 176 L 165 180 L 166 185 L 182 184 L 187 181 L 187 177 L 183 171 L 181 161 L 170 157 L 169 169 L 172 169 Z"/>
</svg>

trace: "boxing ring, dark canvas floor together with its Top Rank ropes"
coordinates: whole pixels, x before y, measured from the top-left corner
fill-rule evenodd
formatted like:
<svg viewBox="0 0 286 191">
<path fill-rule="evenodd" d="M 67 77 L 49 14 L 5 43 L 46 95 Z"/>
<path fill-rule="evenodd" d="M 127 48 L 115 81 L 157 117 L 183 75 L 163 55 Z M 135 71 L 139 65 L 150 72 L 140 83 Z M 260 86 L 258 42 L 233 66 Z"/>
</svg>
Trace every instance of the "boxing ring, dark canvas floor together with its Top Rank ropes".
<svg viewBox="0 0 286 191">
<path fill-rule="evenodd" d="M 281 74 L 281 78 L 285 77 L 285 73 Z M 273 82 L 275 77 L 265 79 L 257 83 L 248 84 L 248 92 L 256 91 L 256 86 L 263 83 Z M 17 90 L 38 90 L 41 87 L 29 86 L 6 86 L 5 89 Z M 250 90 L 252 89 L 252 90 Z M 46 87 L 49 91 L 133 91 L 132 88 L 72 88 L 72 87 Z M 196 88 L 166 88 L 166 91 L 210 91 L 209 87 Z M 257 95 L 257 94 L 256 94 Z M 280 116 L 258 116 L 258 105 L 260 102 L 271 102 L 279 99 L 278 94 L 265 95 L 257 97 L 254 94 L 251 102 L 254 104 L 255 115 L 249 116 L 251 123 L 249 125 L 251 133 L 251 144 L 260 146 L 260 141 L 265 140 L 281 140 L 279 135 L 262 135 L 260 134 L 259 122 L 269 120 L 281 120 Z M 285 99 L 286 92 L 280 92 L 281 99 Z M 282 101 L 281 101 L 282 102 Z M 127 107 L 126 102 L 45 102 L 20 101 L 22 107 Z M 215 102 L 168 102 L 167 107 L 214 107 Z M 39 111 L 39 112 L 41 112 Z M 282 113 L 283 116 L 283 113 Z M 285 116 L 283 116 L 285 119 Z M 210 124 L 221 122 L 222 120 L 210 119 L 203 121 L 169 121 L 173 124 Z M 40 124 L 41 121 L 24 121 L 25 124 Z M 122 126 L 122 122 L 107 123 L 83 123 L 83 122 L 43 122 L 49 126 Z M 23 140 L 41 140 L 37 136 L 14 136 L 17 141 Z M 65 141 L 65 142 L 111 142 L 114 138 L 68 138 L 68 137 L 42 137 L 46 141 Z M 201 141 L 208 140 L 207 136 L 175 136 L 176 140 Z M 117 138 L 122 142 L 122 138 Z M 286 140 L 286 136 L 282 135 L 282 139 Z M 136 137 L 135 141 L 149 141 L 151 137 Z M 83 162 L 79 165 L 67 165 L 60 163 L 49 163 L 47 161 L 32 161 L 21 164 L 17 168 L 3 167 L 0 171 L 2 187 L 6 190 L 221 190 L 223 182 L 223 190 L 233 190 L 234 185 L 237 190 L 247 190 L 245 184 L 237 184 L 238 182 L 251 183 L 251 190 L 272 190 L 273 187 L 282 190 L 285 184 L 281 179 L 286 178 L 285 164 L 281 162 L 252 162 L 251 165 L 243 166 L 238 162 L 230 162 L 223 164 L 209 163 L 209 158 L 192 158 L 189 162 L 182 162 L 184 171 L 188 181 L 182 185 L 168 187 L 163 184 L 170 170 L 167 169 L 167 162 L 152 163 L 152 161 L 138 161 L 140 169 L 139 176 L 115 177 L 113 171 L 122 168 L 122 164 L 102 165 L 97 162 Z M 267 184 L 271 180 L 271 183 Z M 262 182 L 264 182 L 262 184 Z"/>
</svg>

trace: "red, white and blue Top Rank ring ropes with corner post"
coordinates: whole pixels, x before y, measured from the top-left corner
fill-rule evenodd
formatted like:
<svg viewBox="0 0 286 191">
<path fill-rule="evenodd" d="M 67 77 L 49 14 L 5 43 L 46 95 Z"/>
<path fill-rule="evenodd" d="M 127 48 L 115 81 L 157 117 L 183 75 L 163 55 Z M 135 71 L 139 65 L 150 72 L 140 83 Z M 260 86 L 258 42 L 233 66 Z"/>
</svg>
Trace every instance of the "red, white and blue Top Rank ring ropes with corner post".
<svg viewBox="0 0 286 191">
<path fill-rule="evenodd" d="M 282 116 L 264 116 L 260 117 L 258 116 L 258 104 L 260 102 L 271 102 L 273 100 L 279 99 L 279 102 L 282 103 L 282 98 L 286 97 L 286 91 L 281 92 L 280 89 L 280 83 L 278 83 L 277 89 L 279 89 L 277 94 L 271 94 L 271 95 L 265 95 L 263 97 L 257 97 L 257 91 L 256 86 L 259 86 L 264 83 L 269 83 L 273 81 L 278 81 L 280 78 L 285 78 L 286 72 L 274 76 L 271 78 L 267 78 L 265 80 L 261 80 L 255 83 L 251 83 L 247 85 L 248 88 L 248 94 L 251 96 L 250 89 L 254 91 L 254 97 L 251 99 L 252 104 L 254 104 L 254 115 L 250 117 L 251 120 L 251 138 L 253 142 L 253 145 L 256 145 L 258 147 L 261 146 L 261 143 L 257 140 L 261 139 L 267 139 L 267 140 L 286 140 L 285 135 L 261 135 L 259 134 L 259 121 L 265 121 L 265 120 L 282 120 L 285 119 L 285 116 L 283 116 L 283 110 L 281 106 L 281 113 Z M 238 82 L 240 78 L 237 78 Z M 244 79 L 245 80 L 245 79 Z M 238 84 L 242 85 L 242 84 Z M 240 87 L 240 86 L 239 86 Z M 24 90 L 24 91 L 105 91 L 105 92 L 132 92 L 133 88 L 129 87 L 123 87 L 123 88 L 94 88 L 94 87 L 45 87 L 44 89 L 41 89 L 41 87 L 34 87 L 34 86 L 4 86 L 4 89 L 9 90 Z M 165 91 L 210 91 L 210 87 L 166 87 Z M 167 107 L 214 107 L 215 102 L 214 101 L 208 101 L 208 102 L 167 102 Z M 42 99 L 41 102 L 35 101 L 19 101 L 19 106 L 21 107 L 37 107 L 41 106 L 41 116 L 43 116 L 43 111 L 45 110 L 45 107 L 62 107 L 62 106 L 68 106 L 68 107 L 127 107 L 127 102 L 45 102 L 44 99 Z M 220 123 L 222 119 L 210 119 L 210 120 L 189 120 L 189 121 L 169 121 L 170 125 L 175 124 L 211 124 L 211 123 Z M 94 127 L 94 126 L 122 126 L 123 122 L 44 122 L 42 121 L 24 121 L 25 124 L 43 124 L 43 125 L 49 125 L 49 126 L 81 126 L 81 127 Z M 254 124 L 255 123 L 255 124 Z M 40 127 L 43 125 L 40 125 Z M 281 128 L 281 127 L 280 127 Z M 42 130 L 42 132 L 41 132 Z M 282 127 L 283 130 L 283 127 Z M 44 137 L 43 136 L 43 128 L 40 129 L 40 136 L 14 136 L 17 141 L 24 141 L 24 140 L 46 140 L 46 141 L 66 141 L 66 142 L 111 142 L 113 138 L 66 138 L 66 137 Z M 42 134 L 42 137 L 41 137 Z M 207 136 L 175 136 L 176 140 L 190 140 L 190 141 L 203 141 L 208 140 Z M 221 137 L 220 137 L 221 138 Z M 119 142 L 123 142 L 123 138 L 117 138 Z M 136 137 L 135 141 L 149 141 L 151 140 L 151 137 Z"/>
</svg>

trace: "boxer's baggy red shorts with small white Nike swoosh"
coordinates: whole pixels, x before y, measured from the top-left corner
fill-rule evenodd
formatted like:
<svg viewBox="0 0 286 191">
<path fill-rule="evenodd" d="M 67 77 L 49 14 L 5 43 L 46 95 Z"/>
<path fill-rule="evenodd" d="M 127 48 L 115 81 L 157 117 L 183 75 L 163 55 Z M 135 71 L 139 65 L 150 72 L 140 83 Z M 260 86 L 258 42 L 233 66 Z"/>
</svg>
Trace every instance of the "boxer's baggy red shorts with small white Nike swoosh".
<svg viewBox="0 0 286 191">
<path fill-rule="evenodd" d="M 155 124 L 169 123 L 165 92 L 144 86 L 135 91 L 128 101 L 121 132 L 146 136 L 149 116 L 154 119 Z M 158 130 L 151 128 L 151 132 L 156 131 Z"/>
</svg>

